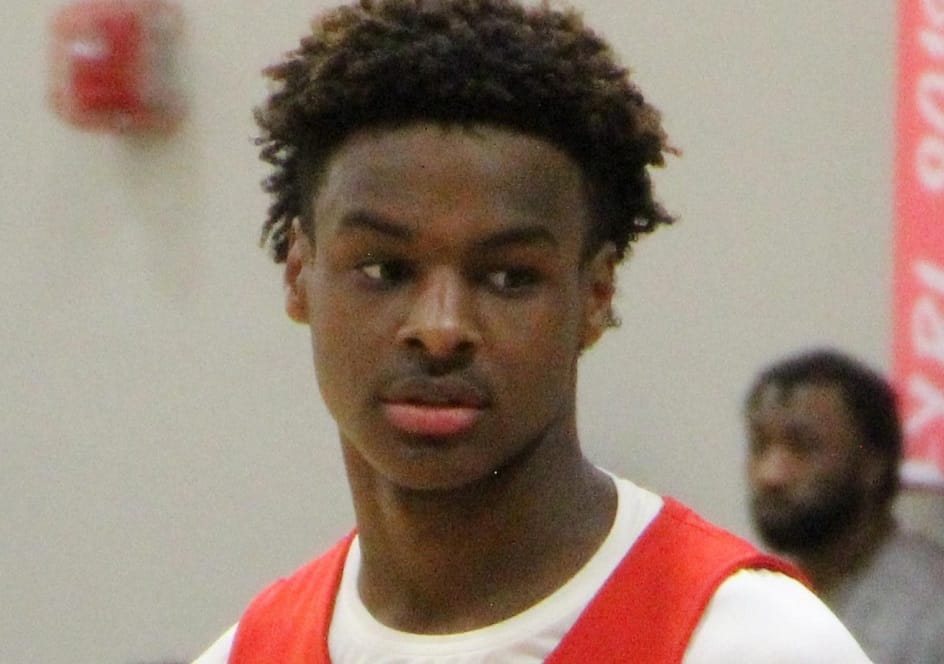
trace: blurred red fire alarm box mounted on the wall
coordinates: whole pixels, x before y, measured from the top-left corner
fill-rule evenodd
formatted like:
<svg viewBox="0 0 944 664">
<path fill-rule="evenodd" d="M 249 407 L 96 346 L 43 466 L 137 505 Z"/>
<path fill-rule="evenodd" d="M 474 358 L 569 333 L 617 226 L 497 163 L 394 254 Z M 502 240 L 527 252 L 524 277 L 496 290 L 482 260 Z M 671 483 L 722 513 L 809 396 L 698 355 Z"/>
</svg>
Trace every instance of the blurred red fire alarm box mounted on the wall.
<svg viewBox="0 0 944 664">
<path fill-rule="evenodd" d="M 169 130 L 183 116 L 180 7 L 169 0 L 81 0 L 52 22 L 50 102 L 104 131 Z"/>
</svg>

